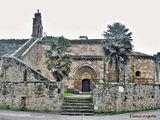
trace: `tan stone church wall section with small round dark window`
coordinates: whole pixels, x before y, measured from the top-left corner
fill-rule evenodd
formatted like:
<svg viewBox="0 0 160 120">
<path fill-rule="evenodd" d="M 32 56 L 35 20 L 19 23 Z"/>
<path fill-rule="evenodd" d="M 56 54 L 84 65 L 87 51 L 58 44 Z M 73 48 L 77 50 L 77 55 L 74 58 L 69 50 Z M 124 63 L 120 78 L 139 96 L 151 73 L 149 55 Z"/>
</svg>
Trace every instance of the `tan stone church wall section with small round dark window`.
<svg viewBox="0 0 160 120">
<path fill-rule="evenodd" d="M 131 77 L 133 83 L 154 84 L 156 67 L 152 58 L 131 57 Z"/>
</svg>

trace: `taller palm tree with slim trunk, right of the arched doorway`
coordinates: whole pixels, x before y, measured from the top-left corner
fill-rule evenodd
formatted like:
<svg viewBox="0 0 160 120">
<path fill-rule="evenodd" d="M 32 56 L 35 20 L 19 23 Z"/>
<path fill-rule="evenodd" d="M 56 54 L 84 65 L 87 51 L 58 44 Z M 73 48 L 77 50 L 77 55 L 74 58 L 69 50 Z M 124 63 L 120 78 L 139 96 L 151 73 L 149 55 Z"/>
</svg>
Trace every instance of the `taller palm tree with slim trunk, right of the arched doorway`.
<svg viewBox="0 0 160 120">
<path fill-rule="evenodd" d="M 102 50 L 105 54 L 104 62 L 115 62 L 116 82 L 119 83 L 120 65 L 126 65 L 129 61 L 130 52 L 132 51 L 132 32 L 121 23 L 108 25 L 108 30 L 103 33 Z M 106 61 L 105 61 L 106 60 Z M 104 66 L 104 70 L 106 70 Z M 104 74 L 106 72 L 104 71 Z"/>
</svg>

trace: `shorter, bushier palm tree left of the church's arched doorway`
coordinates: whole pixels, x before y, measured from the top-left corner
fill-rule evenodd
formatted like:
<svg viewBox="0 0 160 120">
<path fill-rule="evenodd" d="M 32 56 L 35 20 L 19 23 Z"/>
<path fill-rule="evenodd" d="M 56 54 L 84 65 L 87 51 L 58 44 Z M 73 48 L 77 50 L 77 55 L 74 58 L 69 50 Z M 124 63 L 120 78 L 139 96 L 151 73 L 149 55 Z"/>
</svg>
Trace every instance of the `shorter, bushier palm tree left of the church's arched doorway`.
<svg viewBox="0 0 160 120">
<path fill-rule="evenodd" d="M 63 36 L 51 40 L 48 44 L 50 49 L 46 51 L 47 68 L 52 70 L 57 81 L 62 81 L 71 71 L 71 55 L 69 54 L 71 43 Z"/>
</svg>

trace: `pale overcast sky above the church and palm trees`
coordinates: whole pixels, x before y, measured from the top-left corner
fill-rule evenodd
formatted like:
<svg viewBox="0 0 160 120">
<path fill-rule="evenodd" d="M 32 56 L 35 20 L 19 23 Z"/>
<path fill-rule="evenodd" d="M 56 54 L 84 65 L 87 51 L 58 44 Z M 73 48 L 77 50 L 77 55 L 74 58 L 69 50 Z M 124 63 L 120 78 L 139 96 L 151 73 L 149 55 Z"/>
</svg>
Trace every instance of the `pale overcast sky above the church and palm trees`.
<svg viewBox="0 0 160 120">
<path fill-rule="evenodd" d="M 30 38 L 37 9 L 47 35 L 103 38 L 120 22 L 133 33 L 134 51 L 160 52 L 159 0 L 0 0 L 0 39 Z"/>
</svg>

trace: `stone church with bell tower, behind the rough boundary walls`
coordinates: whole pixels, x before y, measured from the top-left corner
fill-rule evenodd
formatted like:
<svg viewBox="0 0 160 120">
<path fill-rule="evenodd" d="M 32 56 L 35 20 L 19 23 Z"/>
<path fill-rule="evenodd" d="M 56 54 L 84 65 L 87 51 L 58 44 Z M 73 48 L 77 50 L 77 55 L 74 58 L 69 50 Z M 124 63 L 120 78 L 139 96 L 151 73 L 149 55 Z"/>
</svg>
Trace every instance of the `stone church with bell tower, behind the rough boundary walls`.
<svg viewBox="0 0 160 120">
<path fill-rule="evenodd" d="M 42 34 L 41 13 L 37 11 L 33 18 L 31 39 L 12 54 L 6 54 L 2 57 L 1 81 L 30 81 L 32 72 L 36 72 L 39 76 L 43 76 L 50 81 L 55 81 L 51 71 L 46 67 L 45 51 L 49 49 L 48 41 L 56 38 L 43 37 Z M 102 39 L 88 38 L 70 40 L 72 44 L 70 48 L 72 50 L 72 66 L 69 77 L 62 80 L 65 90 L 74 89 L 78 92 L 91 92 L 92 83 L 102 83 L 104 74 L 107 83 L 115 83 L 114 65 L 110 66 L 107 63 L 107 70 L 104 73 L 104 54 L 101 41 Z M 21 62 L 15 62 L 9 58 L 5 59 L 6 57 L 13 57 Z M 125 69 L 121 68 L 121 83 L 160 83 L 160 53 L 151 56 L 140 52 L 132 52 L 130 58 L 131 60 L 125 66 Z M 16 67 L 8 64 L 9 62 L 14 62 Z M 27 69 L 28 67 L 30 69 Z"/>
</svg>

